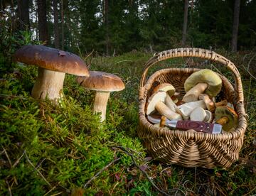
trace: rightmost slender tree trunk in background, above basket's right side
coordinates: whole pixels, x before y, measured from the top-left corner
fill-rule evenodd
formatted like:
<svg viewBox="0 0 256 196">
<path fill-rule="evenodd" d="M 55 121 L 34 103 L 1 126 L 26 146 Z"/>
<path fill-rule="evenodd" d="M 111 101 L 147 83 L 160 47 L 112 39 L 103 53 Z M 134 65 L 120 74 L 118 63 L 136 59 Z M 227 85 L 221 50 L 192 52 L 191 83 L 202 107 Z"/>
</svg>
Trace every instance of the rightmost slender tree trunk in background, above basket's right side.
<svg viewBox="0 0 256 196">
<path fill-rule="evenodd" d="M 235 0 L 233 33 L 232 33 L 232 52 L 238 51 L 238 26 L 239 26 L 240 0 Z"/>
</svg>

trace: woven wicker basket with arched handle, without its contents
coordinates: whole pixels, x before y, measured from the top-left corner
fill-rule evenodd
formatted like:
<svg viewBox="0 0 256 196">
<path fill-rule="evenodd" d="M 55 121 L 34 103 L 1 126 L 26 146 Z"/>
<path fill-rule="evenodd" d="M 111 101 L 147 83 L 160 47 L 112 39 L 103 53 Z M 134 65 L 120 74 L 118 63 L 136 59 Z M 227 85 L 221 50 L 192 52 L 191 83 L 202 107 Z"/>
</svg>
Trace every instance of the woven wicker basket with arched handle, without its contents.
<svg viewBox="0 0 256 196">
<path fill-rule="evenodd" d="M 169 82 L 174 85 L 180 97 L 185 94 L 183 84 L 186 78 L 198 69 L 169 68 L 154 72 L 146 81 L 146 74 L 151 65 L 169 58 L 196 57 L 220 62 L 233 72 L 235 87 L 227 78 L 220 75 L 223 80 L 223 88 L 220 99 L 227 99 L 233 103 L 238 113 L 238 127 L 235 131 L 225 134 L 193 133 L 191 131 L 166 130 L 153 126 L 145 114 L 145 105 L 152 94 L 152 89 L 157 85 Z M 176 163 L 186 167 L 224 168 L 238 160 L 239 151 L 242 147 L 243 137 L 247 126 L 244 109 L 242 82 L 237 68 L 217 53 L 201 48 L 177 48 L 157 53 L 144 67 L 139 88 L 139 130 L 138 135 L 142 138 L 145 148 L 151 156 L 164 163 Z"/>
</svg>

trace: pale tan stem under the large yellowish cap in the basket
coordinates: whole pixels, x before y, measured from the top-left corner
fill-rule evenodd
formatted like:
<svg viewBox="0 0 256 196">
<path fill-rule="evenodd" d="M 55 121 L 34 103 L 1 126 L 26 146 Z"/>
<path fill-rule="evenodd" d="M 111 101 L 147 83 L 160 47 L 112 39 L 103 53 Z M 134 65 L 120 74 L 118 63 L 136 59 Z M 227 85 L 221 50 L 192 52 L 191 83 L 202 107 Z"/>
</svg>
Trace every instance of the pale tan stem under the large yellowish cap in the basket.
<svg viewBox="0 0 256 196">
<path fill-rule="evenodd" d="M 208 84 L 206 83 L 198 83 L 195 87 L 193 87 L 188 92 L 186 92 L 182 101 L 186 103 L 196 102 L 198 100 L 199 94 L 203 94 L 203 92 L 205 92 L 207 87 L 208 87 Z"/>
</svg>

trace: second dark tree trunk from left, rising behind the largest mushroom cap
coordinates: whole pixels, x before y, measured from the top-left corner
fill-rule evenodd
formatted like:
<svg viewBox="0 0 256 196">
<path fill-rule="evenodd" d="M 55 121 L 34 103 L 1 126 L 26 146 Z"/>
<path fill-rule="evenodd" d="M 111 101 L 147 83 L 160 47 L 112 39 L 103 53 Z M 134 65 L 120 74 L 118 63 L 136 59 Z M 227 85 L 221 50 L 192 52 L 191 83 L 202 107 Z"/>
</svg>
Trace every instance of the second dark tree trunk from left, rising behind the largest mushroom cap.
<svg viewBox="0 0 256 196">
<path fill-rule="evenodd" d="M 38 0 L 38 30 L 39 40 L 49 44 L 48 40 L 48 28 L 46 19 L 46 0 Z"/>
</svg>

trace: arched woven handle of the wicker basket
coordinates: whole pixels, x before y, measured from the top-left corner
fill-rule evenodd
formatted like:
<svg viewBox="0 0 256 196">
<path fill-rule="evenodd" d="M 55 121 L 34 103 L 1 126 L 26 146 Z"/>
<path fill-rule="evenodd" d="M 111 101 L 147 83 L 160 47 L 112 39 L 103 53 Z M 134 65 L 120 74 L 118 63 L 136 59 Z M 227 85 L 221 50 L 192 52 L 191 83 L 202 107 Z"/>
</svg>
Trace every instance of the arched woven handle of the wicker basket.
<svg viewBox="0 0 256 196">
<path fill-rule="evenodd" d="M 233 76 L 235 77 L 235 91 L 238 95 L 237 102 L 242 102 L 243 104 L 244 97 L 242 92 L 242 81 L 241 81 L 240 73 L 238 72 L 238 69 L 235 67 L 234 63 L 228 60 L 227 58 L 224 58 L 222 55 L 219 55 L 218 53 L 215 53 L 210 50 L 202 49 L 202 48 L 176 48 L 171 50 L 165 50 L 161 53 L 156 53 L 144 65 L 144 70 L 142 73 L 142 78 L 140 80 L 139 86 L 141 88 L 144 87 L 146 83 L 146 74 L 149 70 L 149 67 L 154 65 L 156 62 L 160 62 L 162 60 L 166 60 L 169 58 L 182 58 L 182 57 L 204 58 L 204 59 L 213 60 L 216 62 L 221 62 L 223 65 L 227 66 L 228 69 L 233 72 Z"/>
</svg>

